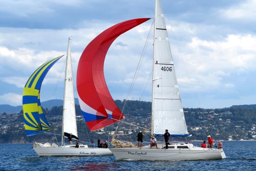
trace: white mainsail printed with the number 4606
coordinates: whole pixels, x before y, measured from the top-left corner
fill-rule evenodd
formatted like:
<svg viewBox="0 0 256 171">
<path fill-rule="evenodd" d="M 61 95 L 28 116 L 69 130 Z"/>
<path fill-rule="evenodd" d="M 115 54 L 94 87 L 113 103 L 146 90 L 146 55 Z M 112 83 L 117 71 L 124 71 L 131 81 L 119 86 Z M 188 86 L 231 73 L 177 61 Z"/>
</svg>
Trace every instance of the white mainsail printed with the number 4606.
<svg viewBox="0 0 256 171">
<path fill-rule="evenodd" d="M 168 129 L 171 136 L 188 136 L 160 0 L 155 12 L 153 132 L 163 135 Z"/>
</svg>

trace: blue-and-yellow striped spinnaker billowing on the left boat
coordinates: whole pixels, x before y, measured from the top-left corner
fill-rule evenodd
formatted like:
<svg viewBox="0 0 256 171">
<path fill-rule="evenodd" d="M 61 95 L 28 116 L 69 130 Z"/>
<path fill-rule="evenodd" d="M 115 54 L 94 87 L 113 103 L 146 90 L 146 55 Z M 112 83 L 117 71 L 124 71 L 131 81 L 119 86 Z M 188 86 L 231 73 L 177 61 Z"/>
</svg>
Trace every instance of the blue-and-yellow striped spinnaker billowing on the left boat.
<svg viewBox="0 0 256 171">
<path fill-rule="evenodd" d="M 40 89 L 45 75 L 62 56 L 51 59 L 37 68 L 29 77 L 23 89 L 22 107 L 27 136 L 36 135 L 51 129 L 41 108 Z"/>
</svg>

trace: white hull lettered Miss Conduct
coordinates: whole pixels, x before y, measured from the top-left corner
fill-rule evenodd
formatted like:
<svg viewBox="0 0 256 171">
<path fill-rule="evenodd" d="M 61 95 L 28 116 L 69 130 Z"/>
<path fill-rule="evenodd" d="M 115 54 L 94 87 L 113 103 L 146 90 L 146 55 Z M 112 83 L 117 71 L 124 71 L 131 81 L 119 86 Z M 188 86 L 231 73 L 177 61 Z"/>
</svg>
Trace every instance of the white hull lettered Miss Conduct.
<svg viewBox="0 0 256 171">
<path fill-rule="evenodd" d="M 224 159 L 226 155 L 222 149 L 209 149 L 194 147 L 189 144 L 189 149 L 163 149 L 164 145 L 158 145 L 158 149 L 149 146 L 142 148 L 110 148 L 117 160 L 134 159 L 134 160 L 212 160 Z"/>
</svg>

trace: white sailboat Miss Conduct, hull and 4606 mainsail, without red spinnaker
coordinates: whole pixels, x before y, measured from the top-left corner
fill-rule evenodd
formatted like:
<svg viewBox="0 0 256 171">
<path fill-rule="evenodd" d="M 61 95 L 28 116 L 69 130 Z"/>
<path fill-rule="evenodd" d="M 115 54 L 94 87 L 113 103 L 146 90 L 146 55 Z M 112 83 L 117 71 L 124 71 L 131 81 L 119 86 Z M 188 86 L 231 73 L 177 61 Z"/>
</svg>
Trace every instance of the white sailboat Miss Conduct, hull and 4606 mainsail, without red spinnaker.
<svg viewBox="0 0 256 171">
<path fill-rule="evenodd" d="M 154 50 L 152 80 L 151 135 L 163 136 L 168 129 L 171 136 L 189 136 L 180 100 L 178 83 L 165 26 L 160 0 L 155 3 Z M 224 159 L 222 148 L 201 148 L 191 143 L 168 145 L 110 148 L 116 159 L 135 160 L 210 160 Z"/>
</svg>

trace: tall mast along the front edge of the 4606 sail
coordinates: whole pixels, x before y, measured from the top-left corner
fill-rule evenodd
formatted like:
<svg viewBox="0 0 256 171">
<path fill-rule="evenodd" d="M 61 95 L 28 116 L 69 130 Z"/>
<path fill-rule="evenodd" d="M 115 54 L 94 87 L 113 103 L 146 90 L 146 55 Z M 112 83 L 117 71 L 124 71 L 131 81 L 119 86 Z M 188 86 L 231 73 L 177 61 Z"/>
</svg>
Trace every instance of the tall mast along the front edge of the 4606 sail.
<svg viewBox="0 0 256 171">
<path fill-rule="evenodd" d="M 154 81 L 155 81 L 155 55 L 156 55 L 156 5 L 155 3 L 155 15 L 154 15 L 154 41 L 153 41 L 153 76 L 152 76 L 152 107 L 151 107 L 151 135 L 154 135 Z"/>
</svg>

